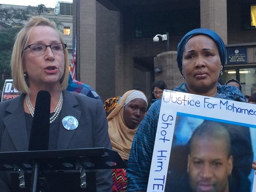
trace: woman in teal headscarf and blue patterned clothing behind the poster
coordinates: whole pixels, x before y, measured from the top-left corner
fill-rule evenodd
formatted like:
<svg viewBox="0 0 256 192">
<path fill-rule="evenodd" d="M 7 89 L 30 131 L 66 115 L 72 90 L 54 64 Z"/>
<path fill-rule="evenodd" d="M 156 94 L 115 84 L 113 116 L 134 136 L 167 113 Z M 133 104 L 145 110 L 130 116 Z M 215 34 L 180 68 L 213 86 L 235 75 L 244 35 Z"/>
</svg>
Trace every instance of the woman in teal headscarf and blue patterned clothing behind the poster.
<svg viewBox="0 0 256 192">
<path fill-rule="evenodd" d="M 218 83 L 225 61 L 225 44 L 217 33 L 206 28 L 188 32 L 177 47 L 177 64 L 185 82 L 174 91 L 246 102 L 238 87 Z M 134 136 L 127 169 L 130 192 L 147 190 L 160 106 L 161 100 L 151 105 Z"/>
</svg>

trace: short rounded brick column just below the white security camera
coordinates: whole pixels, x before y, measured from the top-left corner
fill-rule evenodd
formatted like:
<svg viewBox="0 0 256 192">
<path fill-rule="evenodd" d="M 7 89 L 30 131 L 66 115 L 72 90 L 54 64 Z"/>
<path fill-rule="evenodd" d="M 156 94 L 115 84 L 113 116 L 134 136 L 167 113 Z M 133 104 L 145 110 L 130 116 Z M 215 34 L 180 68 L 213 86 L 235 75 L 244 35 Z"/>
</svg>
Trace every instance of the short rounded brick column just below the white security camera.
<svg viewBox="0 0 256 192">
<path fill-rule="evenodd" d="M 162 66 L 163 69 L 161 73 L 155 73 L 155 80 L 163 80 L 169 90 L 174 89 L 183 82 L 176 59 L 176 51 L 163 52 L 154 58 L 154 67 Z"/>
</svg>

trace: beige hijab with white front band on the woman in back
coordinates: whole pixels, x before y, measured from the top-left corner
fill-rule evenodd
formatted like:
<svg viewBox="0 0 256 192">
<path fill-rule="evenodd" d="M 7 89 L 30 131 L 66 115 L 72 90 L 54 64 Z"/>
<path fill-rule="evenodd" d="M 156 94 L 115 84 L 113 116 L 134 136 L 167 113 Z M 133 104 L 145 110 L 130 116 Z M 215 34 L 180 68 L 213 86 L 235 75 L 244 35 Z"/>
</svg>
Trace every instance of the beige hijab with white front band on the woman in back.
<svg viewBox="0 0 256 192">
<path fill-rule="evenodd" d="M 132 142 L 134 135 L 138 128 L 129 129 L 124 122 L 123 111 L 124 106 L 128 103 L 126 102 L 127 97 L 133 92 L 138 90 L 127 91 L 122 98 L 119 100 L 117 107 L 108 115 L 108 134 L 110 136 L 111 144 L 113 150 L 116 150 L 117 153 L 125 160 L 128 160 L 130 149 L 132 147 Z M 139 91 L 143 93 L 142 91 Z M 142 94 L 140 94 L 142 95 Z M 142 98 L 148 103 L 146 96 L 143 93 L 143 97 L 138 96 L 135 98 Z M 135 99 L 133 98 L 133 99 Z M 128 100 L 130 101 L 130 100 Z M 125 103 L 126 102 L 126 103 Z"/>
</svg>

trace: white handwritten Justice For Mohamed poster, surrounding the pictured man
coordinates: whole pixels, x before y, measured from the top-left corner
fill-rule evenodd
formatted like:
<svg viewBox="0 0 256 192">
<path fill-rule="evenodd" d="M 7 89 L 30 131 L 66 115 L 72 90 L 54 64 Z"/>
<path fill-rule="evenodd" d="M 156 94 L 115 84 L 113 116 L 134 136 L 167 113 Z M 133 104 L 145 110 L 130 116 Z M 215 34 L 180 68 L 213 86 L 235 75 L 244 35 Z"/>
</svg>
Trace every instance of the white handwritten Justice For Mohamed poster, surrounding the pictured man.
<svg viewBox="0 0 256 192">
<path fill-rule="evenodd" d="M 241 153 L 242 160 L 236 157 L 237 154 L 231 154 L 234 156 L 233 162 L 235 161 L 236 164 L 241 162 L 241 166 L 243 166 L 233 166 L 233 170 L 245 169 L 245 180 L 248 181 L 247 187 L 251 189 L 251 192 L 256 191 L 255 171 L 251 168 L 253 160 L 256 160 L 256 105 L 165 90 L 162 96 L 156 131 L 148 192 L 174 190 L 167 184 L 172 182 L 173 178 L 181 181 L 182 178 L 185 178 L 179 178 L 182 174 L 187 175 L 189 181 L 192 180 L 192 176 L 188 172 L 188 151 L 186 151 L 185 146 L 187 146 L 193 131 L 206 120 L 225 124 L 229 129 L 231 145 L 234 137 L 236 137 L 236 140 L 244 139 L 247 142 L 245 143 L 249 147 L 245 146 L 245 148 L 242 146 L 244 143 L 241 143 L 241 146 L 239 143 L 237 144 L 238 147 L 241 147 L 237 150 L 240 152 L 237 153 Z M 231 149 L 232 147 L 235 148 L 236 146 L 231 146 Z M 249 151 L 250 158 L 243 155 L 246 150 L 251 151 Z M 181 153 L 184 153 L 184 158 L 181 158 Z M 181 167 L 177 168 L 173 164 Z M 235 164 L 233 163 L 233 165 Z M 178 171 L 172 170 L 176 168 Z M 190 188 L 189 184 L 188 188 Z"/>
</svg>

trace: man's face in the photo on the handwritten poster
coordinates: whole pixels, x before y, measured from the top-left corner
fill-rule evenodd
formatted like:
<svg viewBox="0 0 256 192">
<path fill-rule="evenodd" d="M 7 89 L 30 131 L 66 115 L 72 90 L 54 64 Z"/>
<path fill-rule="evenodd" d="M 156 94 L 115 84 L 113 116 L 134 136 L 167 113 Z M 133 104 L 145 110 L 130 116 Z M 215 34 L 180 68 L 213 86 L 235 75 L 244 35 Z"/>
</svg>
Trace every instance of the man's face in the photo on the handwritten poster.
<svg viewBox="0 0 256 192">
<path fill-rule="evenodd" d="M 193 192 L 228 192 L 233 166 L 224 139 L 194 138 L 188 155 L 188 175 Z"/>
</svg>

